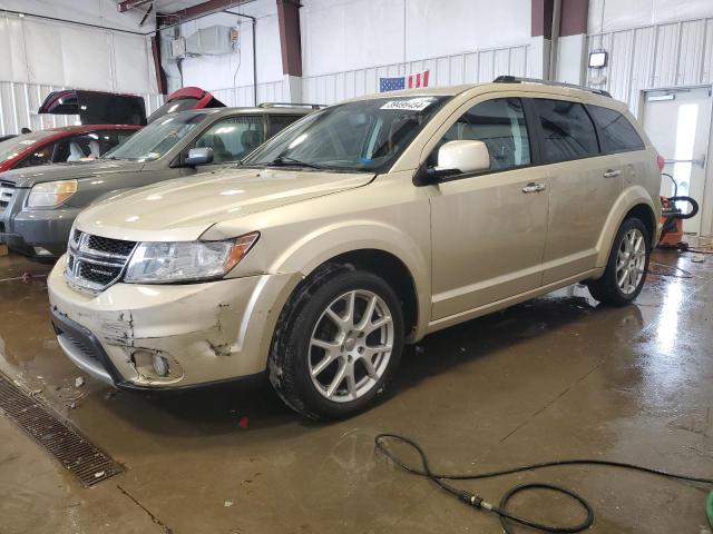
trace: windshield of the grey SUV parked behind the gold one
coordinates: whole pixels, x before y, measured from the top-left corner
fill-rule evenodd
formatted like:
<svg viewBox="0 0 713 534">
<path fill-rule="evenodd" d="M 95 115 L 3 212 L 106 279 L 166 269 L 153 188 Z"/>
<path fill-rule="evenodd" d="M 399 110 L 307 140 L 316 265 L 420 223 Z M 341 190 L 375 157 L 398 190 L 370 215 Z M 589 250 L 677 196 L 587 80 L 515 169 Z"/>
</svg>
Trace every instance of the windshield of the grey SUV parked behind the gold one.
<svg viewBox="0 0 713 534">
<path fill-rule="evenodd" d="M 131 161 L 153 161 L 158 159 L 199 125 L 205 116 L 206 113 L 166 116 L 141 128 L 104 157 L 106 159 L 129 159 Z"/>
</svg>

